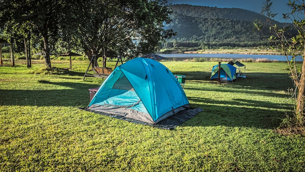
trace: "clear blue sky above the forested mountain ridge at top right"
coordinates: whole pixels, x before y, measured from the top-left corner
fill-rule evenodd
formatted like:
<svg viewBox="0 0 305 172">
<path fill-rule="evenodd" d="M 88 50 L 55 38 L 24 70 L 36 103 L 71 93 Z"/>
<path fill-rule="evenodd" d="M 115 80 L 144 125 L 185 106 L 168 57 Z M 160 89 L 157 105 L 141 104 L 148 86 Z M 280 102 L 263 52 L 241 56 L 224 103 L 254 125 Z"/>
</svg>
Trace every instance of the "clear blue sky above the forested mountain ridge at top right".
<svg viewBox="0 0 305 172">
<path fill-rule="evenodd" d="M 291 0 L 293 1 L 293 0 Z M 242 8 L 257 13 L 261 13 L 262 7 L 266 0 L 168 0 L 172 4 L 191 4 L 191 5 L 201 5 L 201 6 L 210 6 L 218 8 Z M 282 20 L 282 14 L 288 13 L 287 3 L 288 0 L 271 0 L 272 2 L 272 12 L 277 13 L 277 21 Z"/>
</svg>

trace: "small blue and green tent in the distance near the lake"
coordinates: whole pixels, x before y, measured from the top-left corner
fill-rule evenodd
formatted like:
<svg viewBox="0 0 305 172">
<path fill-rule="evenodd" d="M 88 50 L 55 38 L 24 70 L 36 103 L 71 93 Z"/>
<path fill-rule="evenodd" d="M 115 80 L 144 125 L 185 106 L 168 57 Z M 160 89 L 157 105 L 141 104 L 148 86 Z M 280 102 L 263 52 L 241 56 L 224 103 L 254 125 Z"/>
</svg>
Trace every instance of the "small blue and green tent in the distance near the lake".
<svg viewBox="0 0 305 172">
<path fill-rule="evenodd" d="M 218 64 L 213 66 L 210 80 L 218 79 L 218 68 Z M 236 80 L 236 67 L 231 64 L 220 64 L 220 80 L 231 82 Z"/>
</svg>

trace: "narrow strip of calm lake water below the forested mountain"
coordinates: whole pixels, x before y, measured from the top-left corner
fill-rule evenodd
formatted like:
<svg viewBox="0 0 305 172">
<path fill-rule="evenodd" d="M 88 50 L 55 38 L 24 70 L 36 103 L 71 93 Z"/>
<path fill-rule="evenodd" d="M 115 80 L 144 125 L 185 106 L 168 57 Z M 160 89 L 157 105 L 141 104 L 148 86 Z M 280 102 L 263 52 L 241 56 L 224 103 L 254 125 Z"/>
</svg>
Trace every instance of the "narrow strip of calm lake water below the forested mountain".
<svg viewBox="0 0 305 172">
<path fill-rule="evenodd" d="M 268 59 L 275 60 L 278 62 L 285 61 L 286 57 L 282 55 L 252 55 L 252 54 L 159 54 L 160 56 L 166 57 L 169 60 L 182 61 L 184 59 L 192 58 L 221 58 L 221 59 Z M 289 57 L 291 60 L 291 56 Z M 296 58 L 296 61 L 302 62 L 301 56 Z"/>
</svg>

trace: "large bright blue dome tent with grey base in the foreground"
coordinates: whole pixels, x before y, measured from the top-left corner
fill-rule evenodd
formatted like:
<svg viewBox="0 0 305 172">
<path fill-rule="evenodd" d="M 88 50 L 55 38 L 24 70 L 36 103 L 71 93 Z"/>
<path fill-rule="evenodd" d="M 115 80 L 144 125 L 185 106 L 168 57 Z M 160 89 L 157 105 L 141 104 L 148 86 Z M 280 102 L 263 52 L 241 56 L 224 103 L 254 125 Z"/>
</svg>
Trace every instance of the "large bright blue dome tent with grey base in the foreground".
<svg viewBox="0 0 305 172">
<path fill-rule="evenodd" d="M 187 108 L 191 108 L 187 96 L 166 66 L 135 58 L 114 69 L 87 110 L 157 124 Z"/>
</svg>

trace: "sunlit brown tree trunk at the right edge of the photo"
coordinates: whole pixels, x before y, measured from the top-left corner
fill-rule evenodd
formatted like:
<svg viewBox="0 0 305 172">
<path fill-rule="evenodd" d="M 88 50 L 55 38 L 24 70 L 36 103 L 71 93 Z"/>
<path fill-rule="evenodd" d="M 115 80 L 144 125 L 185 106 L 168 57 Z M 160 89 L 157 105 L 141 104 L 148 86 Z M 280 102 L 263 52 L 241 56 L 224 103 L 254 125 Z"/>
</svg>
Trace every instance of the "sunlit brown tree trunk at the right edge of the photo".
<svg viewBox="0 0 305 172">
<path fill-rule="evenodd" d="M 304 45 L 305 46 L 305 45 Z M 305 57 L 305 47 L 304 47 L 304 57 Z M 298 97 L 297 97 L 297 109 L 296 109 L 296 118 L 298 123 L 302 123 L 304 121 L 304 114 L 305 114 L 305 60 L 303 60 L 302 64 L 302 71 L 301 71 L 301 78 L 299 81 L 298 88 Z"/>
</svg>

